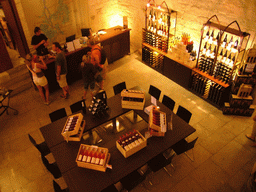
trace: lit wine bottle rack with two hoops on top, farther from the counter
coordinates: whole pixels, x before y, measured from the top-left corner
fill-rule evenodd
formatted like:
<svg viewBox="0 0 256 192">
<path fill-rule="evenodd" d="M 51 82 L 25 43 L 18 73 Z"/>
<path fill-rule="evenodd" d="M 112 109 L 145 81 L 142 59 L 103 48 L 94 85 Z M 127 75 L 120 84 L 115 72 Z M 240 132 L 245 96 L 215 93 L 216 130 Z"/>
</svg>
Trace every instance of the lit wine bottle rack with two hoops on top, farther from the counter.
<svg viewBox="0 0 256 192">
<path fill-rule="evenodd" d="M 214 18 L 217 23 L 211 21 Z M 231 28 L 232 24 L 236 24 L 238 30 Z M 216 15 L 212 16 L 201 30 L 198 60 L 196 68 L 193 69 L 193 73 L 197 75 L 192 76 L 206 78 L 212 81 L 212 84 L 217 84 L 218 89 L 229 87 L 235 72 L 242 65 L 249 37 L 250 34 L 242 32 L 236 21 L 225 27 L 219 23 Z M 197 83 L 200 82 L 192 81 L 191 83 L 191 89 L 199 95 L 202 91 L 198 92 L 192 87 L 198 87 Z M 207 96 L 206 99 L 211 100 L 211 97 Z M 223 98 L 219 98 L 219 101 L 221 102 L 214 101 L 214 103 L 222 106 Z"/>
</svg>

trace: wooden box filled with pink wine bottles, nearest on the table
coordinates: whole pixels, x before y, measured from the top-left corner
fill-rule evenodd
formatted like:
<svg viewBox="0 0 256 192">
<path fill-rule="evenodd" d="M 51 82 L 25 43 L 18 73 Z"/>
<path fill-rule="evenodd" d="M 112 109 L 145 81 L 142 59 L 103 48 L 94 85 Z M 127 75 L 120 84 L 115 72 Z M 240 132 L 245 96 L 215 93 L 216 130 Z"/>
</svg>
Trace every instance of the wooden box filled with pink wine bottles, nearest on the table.
<svg viewBox="0 0 256 192">
<path fill-rule="evenodd" d="M 81 144 L 76 163 L 78 167 L 105 172 L 110 159 L 108 148 Z"/>
</svg>

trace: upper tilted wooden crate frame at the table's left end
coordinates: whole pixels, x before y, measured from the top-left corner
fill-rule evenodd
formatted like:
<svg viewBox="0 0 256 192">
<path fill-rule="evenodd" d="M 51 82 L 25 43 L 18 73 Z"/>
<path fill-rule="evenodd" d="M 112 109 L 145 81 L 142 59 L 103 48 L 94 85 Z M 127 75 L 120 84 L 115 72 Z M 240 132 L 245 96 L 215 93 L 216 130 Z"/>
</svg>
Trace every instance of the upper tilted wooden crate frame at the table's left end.
<svg viewBox="0 0 256 192">
<path fill-rule="evenodd" d="M 75 124 L 72 123 L 74 121 L 74 119 L 76 119 Z M 61 132 L 61 135 L 66 138 L 67 135 L 71 136 L 71 135 L 78 134 L 82 121 L 83 121 L 82 113 L 78 113 L 78 114 L 69 116 L 65 123 L 65 126 Z M 74 127 L 72 128 L 72 126 L 74 126 Z"/>
</svg>

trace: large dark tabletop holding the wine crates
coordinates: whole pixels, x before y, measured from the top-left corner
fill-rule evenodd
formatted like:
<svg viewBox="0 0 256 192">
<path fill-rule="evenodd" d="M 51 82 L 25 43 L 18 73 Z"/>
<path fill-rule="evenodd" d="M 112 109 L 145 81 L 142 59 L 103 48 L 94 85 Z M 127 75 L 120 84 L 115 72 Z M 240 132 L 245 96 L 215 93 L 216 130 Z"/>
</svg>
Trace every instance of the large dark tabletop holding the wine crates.
<svg viewBox="0 0 256 192">
<path fill-rule="evenodd" d="M 150 104 L 150 95 L 146 94 L 145 106 Z M 77 167 L 75 162 L 76 156 L 80 144 L 84 143 L 84 141 L 67 143 L 63 139 L 60 133 L 67 118 L 60 119 L 40 128 L 70 191 L 101 191 L 111 184 L 118 182 L 132 171 L 139 169 L 153 157 L 164 152 L 195 131 L 193 127 L 173 114 L 173 112 L 162 103 L 158 102 L 158 105 L 161 111 L 166 112 L 167 122 L 169 122 L 170 116 L 173 115 L 172 130 L 168 130 L 164 137 L 149 138 L 146 148 L 128 158 L 124 158 L 115 146 L 116 140 L 119 138 L 120 134 L 124 134 L 125 131 L 123 133 L 113 134 L 111 140 L 99 144 L 100 147 L 108 148 L 111 154 L 109 164 L 113 166 L 113 169 L 108 169 L 106 172 Z M 95 118 L 87 111 L 86 115 L 84 115 L 84 119 L 86 120 L 85 131 L 91 130 L 130 111 L 129 109 L 122 109 L 120 94 L 109 98 L 108 106 L 110 108 L 108 116 L 103 118 Z M 138 126 L 139 131 L 144 133 L 147 129 L 148 115 L 142 110 L 134 110 L 134 112 L 145 121 L 144 127 L 143 123 L 142 127 L 139 128 Z"/>
</svg>

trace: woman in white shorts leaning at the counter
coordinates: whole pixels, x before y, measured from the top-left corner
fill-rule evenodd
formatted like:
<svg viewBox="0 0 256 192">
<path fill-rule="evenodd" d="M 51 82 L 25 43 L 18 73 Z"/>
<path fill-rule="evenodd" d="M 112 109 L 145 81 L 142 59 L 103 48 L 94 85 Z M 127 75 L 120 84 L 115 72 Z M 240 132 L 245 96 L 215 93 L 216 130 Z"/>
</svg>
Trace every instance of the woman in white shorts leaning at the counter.
<svg viewBox="0 0 256 192">
<path fill-rule="evenodd" d="M 42 71 L 42 69 L 47 69 L 47 66 L 43 60 L 43 57 L 39 57 L 41 63 L 38 63 L 36 55 L 31 56 L 30 54 L 28 54 L 26 56 L 26 60 L 29 61 L 27 62 L 27 68 L 32 73 L 33 81 L 39 90 L 39 94 L 42 97 L 44 104 L 49 105 L 50 102 L 48 81 Z M 43 88 L 45 89 L 45 94 L 43 92 Z"/>
</svg>

